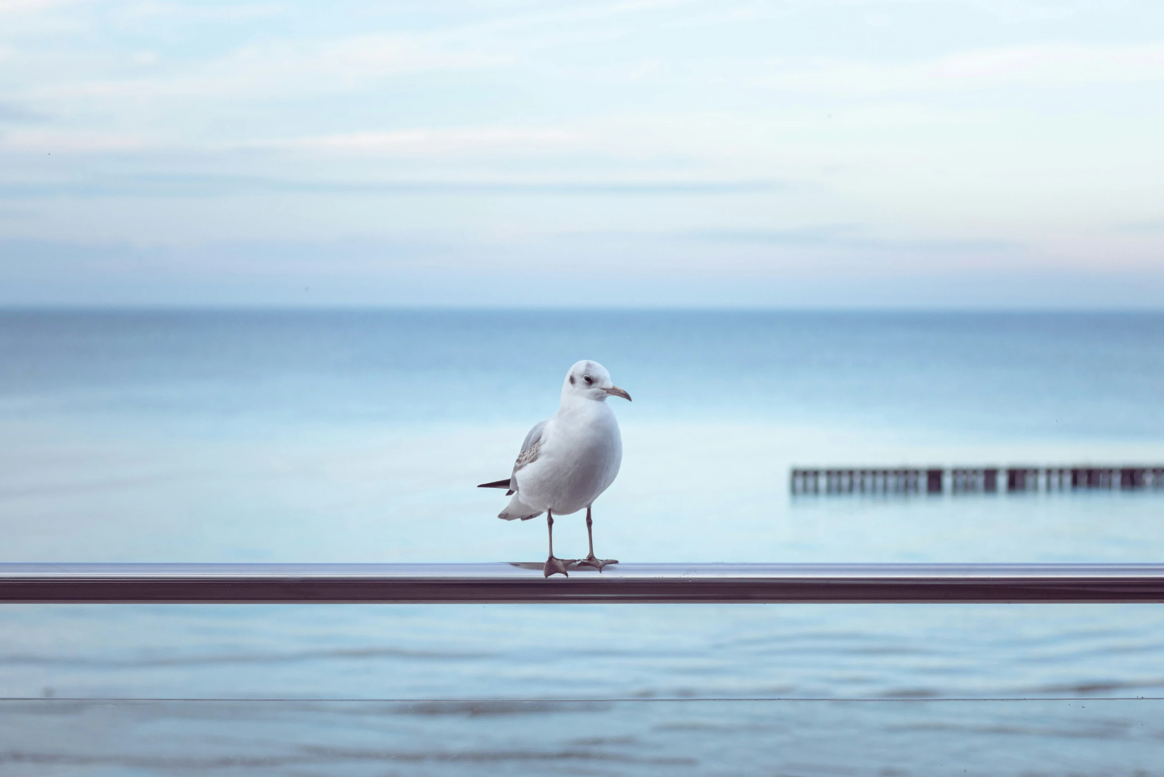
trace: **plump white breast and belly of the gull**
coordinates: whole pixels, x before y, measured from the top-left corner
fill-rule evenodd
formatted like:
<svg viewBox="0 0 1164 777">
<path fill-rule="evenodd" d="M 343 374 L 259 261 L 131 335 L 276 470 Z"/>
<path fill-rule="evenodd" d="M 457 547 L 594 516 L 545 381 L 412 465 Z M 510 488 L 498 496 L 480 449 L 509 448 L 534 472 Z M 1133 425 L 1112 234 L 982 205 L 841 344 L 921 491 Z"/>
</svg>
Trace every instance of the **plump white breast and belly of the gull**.
<svg viewBox="0 0 1164 777">
<path fill-rule="evenodd" d="M 546 422 L 538 461 L 517 473 L 526 505 L 568 515 L 605 491 L 623 462 L 618 421 L 606 402 L 563 405 Z"/>
</svg>

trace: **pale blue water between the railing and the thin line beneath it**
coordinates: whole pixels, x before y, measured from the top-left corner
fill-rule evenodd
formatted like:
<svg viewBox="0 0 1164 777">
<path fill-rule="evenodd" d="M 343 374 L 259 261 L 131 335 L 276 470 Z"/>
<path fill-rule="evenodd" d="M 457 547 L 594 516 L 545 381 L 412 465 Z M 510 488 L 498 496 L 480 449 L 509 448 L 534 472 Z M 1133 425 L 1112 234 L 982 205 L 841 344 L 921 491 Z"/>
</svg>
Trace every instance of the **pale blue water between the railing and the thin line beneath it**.
<svg viewBox="0 0 1164 777">
<path fill-rule="evenodd" d="M 7 606 L 8 697 L 1164 696 L 1155 605 Z"/>
</svg>

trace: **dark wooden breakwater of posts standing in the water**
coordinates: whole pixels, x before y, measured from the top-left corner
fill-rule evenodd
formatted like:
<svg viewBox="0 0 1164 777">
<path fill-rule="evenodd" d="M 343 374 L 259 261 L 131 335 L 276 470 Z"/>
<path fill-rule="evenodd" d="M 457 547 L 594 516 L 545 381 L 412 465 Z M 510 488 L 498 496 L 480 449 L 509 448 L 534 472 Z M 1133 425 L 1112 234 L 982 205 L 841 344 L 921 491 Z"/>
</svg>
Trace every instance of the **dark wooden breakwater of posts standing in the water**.
<svg viewBox="0 0 1164 777">
<path fill-rule="evenodd" d="M 996 493 L 1164 489 L 1164 464 L 1095 466 L 793 468 L 794 494 Z"/>
</svg>

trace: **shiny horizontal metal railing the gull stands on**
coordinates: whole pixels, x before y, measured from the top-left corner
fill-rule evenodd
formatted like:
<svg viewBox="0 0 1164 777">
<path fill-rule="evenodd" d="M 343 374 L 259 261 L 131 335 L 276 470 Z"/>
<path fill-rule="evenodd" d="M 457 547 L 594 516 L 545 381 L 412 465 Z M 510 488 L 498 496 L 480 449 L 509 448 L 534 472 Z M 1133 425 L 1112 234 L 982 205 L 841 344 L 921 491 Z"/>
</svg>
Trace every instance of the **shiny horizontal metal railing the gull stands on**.
<svg viewBox="0 0 1164 777">
<path fill-rule="evenodd" d="M 0 564 L 0 603 L 1164 603 L 1164 564 Z"/>
</svg>

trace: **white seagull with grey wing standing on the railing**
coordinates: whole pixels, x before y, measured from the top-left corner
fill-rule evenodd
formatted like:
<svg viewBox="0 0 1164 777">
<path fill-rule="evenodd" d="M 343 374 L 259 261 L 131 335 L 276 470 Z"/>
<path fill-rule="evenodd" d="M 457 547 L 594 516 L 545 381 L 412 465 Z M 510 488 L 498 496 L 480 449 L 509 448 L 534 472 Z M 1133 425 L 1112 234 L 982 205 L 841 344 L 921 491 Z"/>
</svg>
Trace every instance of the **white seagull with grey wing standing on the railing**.
<svg viewBox="0 0 1164 777">
<path fill-rule="evenodd" d="M 546 577 L 561 572 L 567 564 L 594 566 L 599 572 L 617 559 L 594 555 L 594 520 L 590 506 L 610 487 L 623 463 L 623 437 L 618 421 L 606 405 L 608 397 L 631 395 L 610 382 L 606 368 L 582 361 L 570 368 L 562 383 L 558 412 L 535 425 L 525 435 L 513 473 L 504 480 L 482 483 L 478 489 L 508 489 L 510 504 L 497 518 L 527 521 L 546 513 L 549 528 L 549 558 L 542 566 Z M 569 515 L 585 507 L 585 532 L 590 553 L 582 561 L 554 556 L 554 514 Z"/>
</svg>

